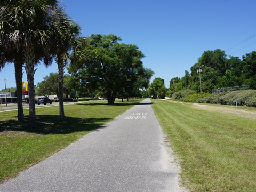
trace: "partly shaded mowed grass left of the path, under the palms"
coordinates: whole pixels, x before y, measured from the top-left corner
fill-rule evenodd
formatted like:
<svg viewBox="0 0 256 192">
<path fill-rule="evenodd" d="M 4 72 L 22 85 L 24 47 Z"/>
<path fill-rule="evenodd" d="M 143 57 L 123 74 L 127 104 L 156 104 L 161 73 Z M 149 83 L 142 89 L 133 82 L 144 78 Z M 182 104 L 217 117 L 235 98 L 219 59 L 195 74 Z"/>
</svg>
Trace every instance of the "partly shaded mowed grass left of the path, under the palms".
<svg viewBox="0 0 256 192">
<path fill-rule="evenodd" d="M 99 126 L 111 121 L 141 102 L 130 100 L 115 105 L 107 101 L 89 101 L 65 105 L 65 122 L 59 122 L 59 106 L 36 108 L 37 130 L 29 131 L 28 110 L 25 124 L 19 124 L 17 111 L 0 113 L 0 183 L 16 177 L 46 157 L 57 153 Z"/>
</svg>

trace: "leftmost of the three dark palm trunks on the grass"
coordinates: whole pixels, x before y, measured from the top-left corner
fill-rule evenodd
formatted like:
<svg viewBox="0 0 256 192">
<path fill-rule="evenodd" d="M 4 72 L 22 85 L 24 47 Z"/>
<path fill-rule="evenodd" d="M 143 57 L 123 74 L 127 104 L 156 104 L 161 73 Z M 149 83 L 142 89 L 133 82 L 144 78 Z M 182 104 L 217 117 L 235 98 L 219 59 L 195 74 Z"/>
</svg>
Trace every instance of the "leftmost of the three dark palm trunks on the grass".
<svg viewBox="0 0 256 192">
<path fill-rule="evenodd" d="M 15 79 L 16 79 L 16 94 L 17 94 L 17 107 L 18 107 L 18 121 L 24 123 L 23 105 L 22 105 L 22 58 L 17 58 L 14 61 L 15 66 Z"/>
</svg>

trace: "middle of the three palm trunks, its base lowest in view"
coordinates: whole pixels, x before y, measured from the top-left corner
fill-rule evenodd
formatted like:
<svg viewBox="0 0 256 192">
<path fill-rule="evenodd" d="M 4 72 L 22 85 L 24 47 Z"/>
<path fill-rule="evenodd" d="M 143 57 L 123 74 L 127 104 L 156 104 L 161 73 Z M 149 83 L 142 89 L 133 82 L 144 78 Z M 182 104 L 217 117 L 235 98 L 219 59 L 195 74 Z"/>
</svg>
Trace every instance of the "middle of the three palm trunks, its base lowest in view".
<svg viewBox="0 0 256 192">
<path fill-rule="evenodd" d="M 25 59 L 25 70 L 28 80 L 28 100 L 29 100 L 29 129 L 36 129 L 36 109 L 35 109 L 35 89 L 34 89 L 34 74 L 36 72 L 35 68 L 35 55 L 34 47 L 27 46 L 24 49 L 24 59 Z"/>
</svg>

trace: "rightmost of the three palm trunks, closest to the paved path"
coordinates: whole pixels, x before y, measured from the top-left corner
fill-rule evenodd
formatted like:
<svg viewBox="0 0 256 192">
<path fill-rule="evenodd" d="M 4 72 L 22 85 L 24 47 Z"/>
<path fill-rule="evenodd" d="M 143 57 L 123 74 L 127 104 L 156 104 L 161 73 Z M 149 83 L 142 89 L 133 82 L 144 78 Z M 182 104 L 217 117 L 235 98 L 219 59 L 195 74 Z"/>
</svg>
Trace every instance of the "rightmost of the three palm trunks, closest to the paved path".
<svg viewBox="0 0 256 192">
<path fill-rule="evenodd" d="M 63 59 L 57 59 L 58 72 L 59 72 L 59 107 L 60 107 L 60 122 L 65 119 L 64 102 L 63 102 L 63 83 L 64 83 L 64 63 Z"/>
</svg>

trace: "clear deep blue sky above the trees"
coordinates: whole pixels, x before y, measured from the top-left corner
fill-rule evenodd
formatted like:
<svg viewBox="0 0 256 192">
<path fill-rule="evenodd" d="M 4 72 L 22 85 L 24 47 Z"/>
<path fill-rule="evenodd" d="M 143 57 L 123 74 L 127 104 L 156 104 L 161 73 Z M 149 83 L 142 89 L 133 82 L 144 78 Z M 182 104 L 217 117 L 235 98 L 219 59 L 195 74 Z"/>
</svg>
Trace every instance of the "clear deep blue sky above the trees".
<svg viewBox="0 0 256 192">
<path fill-rule="evenodd" d="M 151 81 L 161 77 L 166 87 L 171 78 L 190 72 L 204 51 L 226 51 L 256 34 L 255 0 L 62 1 L 69 17 L 81 25 L 83 36 L 115 34 L 123 43 L 137 44 L 146 55 L 143 65 L 155 71 Z M 253 36 L 226 54 L 242 57 L 255 50 Z M 35 84 L 57 72 L 55 63 L 36 68 Z M 12 64 L 0 72 L 0 90 L 4 79 L 6 87 L 15 87 Z"/>
</svg>

